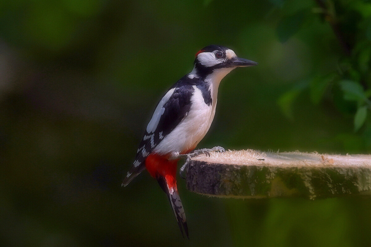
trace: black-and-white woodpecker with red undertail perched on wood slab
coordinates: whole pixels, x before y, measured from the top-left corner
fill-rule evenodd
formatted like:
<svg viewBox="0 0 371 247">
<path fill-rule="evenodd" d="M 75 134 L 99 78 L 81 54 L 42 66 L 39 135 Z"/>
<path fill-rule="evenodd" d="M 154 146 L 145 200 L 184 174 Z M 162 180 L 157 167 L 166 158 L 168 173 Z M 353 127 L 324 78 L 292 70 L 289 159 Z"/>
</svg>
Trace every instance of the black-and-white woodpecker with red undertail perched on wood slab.
<svg viewBox="0 0 371 247">
<path fill-rule="evenodd" d="M 222 147 L 193 150 L 214 119 L 221 79 L 237 67 L 257 64 L 237 57 L 233 50 L 224 46 L 209 45 L 198 51 L 191 73 L 170 87 L 157 104 L 139 144 L 134 164 L 122 183 L 122 186 L 127 186 L 147 168 L 167 194 L 183 237 L 182 227 L 187 237 L 188 227 L 177 190 L 177 163 L 180 158 L 186 158 L 181 168 L 183 171 L 190 157 L 225 151 Z"/>
</svg>

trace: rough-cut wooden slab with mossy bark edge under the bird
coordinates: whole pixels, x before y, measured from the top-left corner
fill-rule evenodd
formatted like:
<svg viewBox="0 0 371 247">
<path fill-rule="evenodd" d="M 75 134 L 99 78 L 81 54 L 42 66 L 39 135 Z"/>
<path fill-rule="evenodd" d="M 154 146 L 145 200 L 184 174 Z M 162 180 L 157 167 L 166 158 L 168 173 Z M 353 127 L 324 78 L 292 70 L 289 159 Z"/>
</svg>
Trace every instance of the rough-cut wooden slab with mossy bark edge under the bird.
<svg viewBox="0 0 371 247">
<path fill-rule="evenodd" d="M 188 166 L 187 189 L 234 198 L 371 195 L 371 155 L 228 150 Z"/>
</svg>

